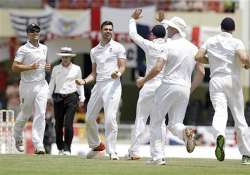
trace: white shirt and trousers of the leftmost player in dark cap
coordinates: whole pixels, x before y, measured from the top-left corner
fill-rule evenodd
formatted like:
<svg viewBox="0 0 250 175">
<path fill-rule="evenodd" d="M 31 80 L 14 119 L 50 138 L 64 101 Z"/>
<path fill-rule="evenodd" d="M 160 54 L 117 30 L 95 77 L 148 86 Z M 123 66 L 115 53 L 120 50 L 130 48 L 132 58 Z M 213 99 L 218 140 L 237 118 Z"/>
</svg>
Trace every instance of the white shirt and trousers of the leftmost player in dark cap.
<svg viewBox="0 0 250 175">
<path fill-rule="evenodd" d="M 48 83 L 45 80 L 45 64 L 47 46 L 40 44 L 33 46 L 30 42 L 21 46 L 14 61 L 22 64 L 40 64 L 36 70 L 21 72 L 19 85 L 21 112 L 15 124 L 15 139 L 22 139 L 25 122 L 33 115 L 32 142 L 35 148 L 43 148 L 45 130 L 45 111 L 48 98 Z"/>
</svg>

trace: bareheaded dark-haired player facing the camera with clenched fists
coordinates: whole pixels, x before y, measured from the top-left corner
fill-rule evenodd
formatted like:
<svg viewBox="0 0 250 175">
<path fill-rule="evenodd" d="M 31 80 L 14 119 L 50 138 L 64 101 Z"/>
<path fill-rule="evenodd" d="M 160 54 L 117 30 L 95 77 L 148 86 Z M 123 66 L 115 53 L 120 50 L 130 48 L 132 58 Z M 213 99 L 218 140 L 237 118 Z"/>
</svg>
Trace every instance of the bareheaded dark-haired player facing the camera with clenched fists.
<svg viewBox="0 0 250 175">
<path fill-rule="evenodd" d="M 86 124 L 89 147 L 92 149 L 87 158 L 93 158 L 105 145 L 98 137 L 97 116 L 104 108 L 106 151 L 110 160 L 119 160 L 116 153 L 118 126 L 116 114 L 121 99 L 120 77 L 126 68 L 126 50 L 112 39 L 113 23 L 101 24 L 101 41 L 91 49 L 92 72 L 85 79 L 76 80 L 77 84 L 88 84 L 96 80 L 87 106 Z"/>
</svg>

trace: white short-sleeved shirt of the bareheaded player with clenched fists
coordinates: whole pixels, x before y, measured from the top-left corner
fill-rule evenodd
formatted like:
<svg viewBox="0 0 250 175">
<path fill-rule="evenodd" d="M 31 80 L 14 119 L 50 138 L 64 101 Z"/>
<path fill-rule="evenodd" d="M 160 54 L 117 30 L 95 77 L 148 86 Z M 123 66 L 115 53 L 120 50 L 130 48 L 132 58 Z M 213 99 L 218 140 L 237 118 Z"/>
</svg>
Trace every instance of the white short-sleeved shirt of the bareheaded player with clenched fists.
<svg viewBox="0 0 250 175">
<path fill-rule="evenodd" d="M 126 50 L 118 42 L 110 40 L 106 45 L 99 43 L 90 51 L 92 63 L 96 63 L 96 81 L 111 79 L 111 74 L 118 70 L 118 59 L 126 59 Z"/>
</svg>

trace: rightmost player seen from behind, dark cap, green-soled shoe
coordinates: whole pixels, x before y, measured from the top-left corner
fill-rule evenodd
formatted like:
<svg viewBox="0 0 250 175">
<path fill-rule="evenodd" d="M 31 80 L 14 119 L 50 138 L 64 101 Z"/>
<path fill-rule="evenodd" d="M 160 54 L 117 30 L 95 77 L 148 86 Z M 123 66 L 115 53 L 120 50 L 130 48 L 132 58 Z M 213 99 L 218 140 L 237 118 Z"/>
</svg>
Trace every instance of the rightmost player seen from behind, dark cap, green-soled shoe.
<svg viewBox="0 0 250 175">
<path fill-rule="evenodd" d="M 250 67 L 249 56 L 244 44 L 232 36 L 235 23 L 226 17 L 221 22 L 221 33 L 209 38 L 197 53 L 195 60 L 210 65 L 210 98 L 215 110 L 213 118 L 216 139 L 215 156 L 225 158 L 225 129 L 228 119 L 227 106 L 230 108 L 237 142 L 242 154 L 242 164 L 250 164 L 250 137 L 244 116 L 244 100 L 240 82 L 241 65 Z"/>
</svg>

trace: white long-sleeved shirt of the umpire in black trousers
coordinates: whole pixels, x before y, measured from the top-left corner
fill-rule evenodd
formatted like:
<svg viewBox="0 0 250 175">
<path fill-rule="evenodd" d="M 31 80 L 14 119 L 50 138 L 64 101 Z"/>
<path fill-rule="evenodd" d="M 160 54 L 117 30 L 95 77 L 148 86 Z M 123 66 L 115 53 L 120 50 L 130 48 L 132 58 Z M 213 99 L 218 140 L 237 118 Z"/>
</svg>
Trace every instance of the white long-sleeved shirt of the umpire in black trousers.
<svg viewBox="0 0 250 175">
<path fill-rule="evenodd" d="M 62 64 L 56 65 L 51 74 L 49 82 L 50 97 L 53 92 L 58 94 L 71 94 L 78 92 L 80 95 L 80 101 L 85 100 L 83 86 L 78 86 L 75 83 L 76 79 L 82 78 L 82 71 L 79 66 L 70 64 L 68 67 L 62 66 Z"/>
</svg>

